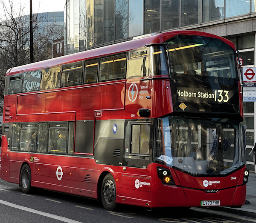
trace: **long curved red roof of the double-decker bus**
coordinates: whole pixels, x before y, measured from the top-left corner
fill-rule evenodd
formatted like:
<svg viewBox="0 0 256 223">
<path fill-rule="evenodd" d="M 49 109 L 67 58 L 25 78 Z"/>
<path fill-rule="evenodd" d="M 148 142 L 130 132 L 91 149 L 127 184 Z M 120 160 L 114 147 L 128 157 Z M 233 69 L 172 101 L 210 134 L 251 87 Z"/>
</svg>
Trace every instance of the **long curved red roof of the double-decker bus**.
<svg viewBox="0 0 256 223">
<path fill-rule="evenodd" d="M 101 56 L 107 56 L 110 54 L 117 54 L 122 53 L 125 51 L 130 51 L 132 49 L 141 48 L 146 45 L 154 44 L 154 43 L 163 43 L 166 40 L 169 40 L 170 38 L 178 35 L 178 34 L 186 34 L 186 35 L 198 35 L 198 36 L 205 36 L 205 37 L 213 37 L 213 38 L 220 38 L 225 43 L 230 45 L 233 49 L 235 49 L 234 43 L 232 43 L 230 40 L 227 40 L 223 37 L 218 37 L 213 34 L 201 32 L 201 31 L 191 31 L 191 30 L 184 30 L 184 31 L 168 31 L 163 32 L 159 34 L 150 34 L 150 35 L 144 35 L 141 37 L 136 37 L 133 40 L 125 41 L 122 43 L 116 43 L 109 46 L 102 46 L 100 48 L 96 49 L 90 49 L 86 51 L 81 51 L 79 53 L 74 53 L 62 57 L 56 57 L 49 60 L 43 60 L 40 62 L 35 63 L 29 63 L 23 66 L 18 66 L 14 68 L 10 68 L 6 72 L 6 76 L 19 74 L 23 72 L 38 70 L 38 69 L 44 69 L 49 68 L 53 66 L 59 66 L 62 64 L 67 63 L 74 63 L 81 60 L 87 60 L 92 59 L 95 57 L 101 57 Z"/>
</svg>

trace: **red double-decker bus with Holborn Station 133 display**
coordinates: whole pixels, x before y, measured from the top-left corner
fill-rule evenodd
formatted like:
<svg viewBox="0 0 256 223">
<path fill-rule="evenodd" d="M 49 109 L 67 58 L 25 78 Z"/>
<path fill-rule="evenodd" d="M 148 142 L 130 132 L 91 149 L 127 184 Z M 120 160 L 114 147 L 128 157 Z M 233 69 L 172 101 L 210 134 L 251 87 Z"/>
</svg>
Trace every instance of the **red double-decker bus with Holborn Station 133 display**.
<svg viewBox="0 0 256 223">
<path fill-rule="evenodd" d="M 198 31 L 9 69 L 1 178 L 108 210 L 241 206 L 241 96 L 234 44 Z"/>
</svg>

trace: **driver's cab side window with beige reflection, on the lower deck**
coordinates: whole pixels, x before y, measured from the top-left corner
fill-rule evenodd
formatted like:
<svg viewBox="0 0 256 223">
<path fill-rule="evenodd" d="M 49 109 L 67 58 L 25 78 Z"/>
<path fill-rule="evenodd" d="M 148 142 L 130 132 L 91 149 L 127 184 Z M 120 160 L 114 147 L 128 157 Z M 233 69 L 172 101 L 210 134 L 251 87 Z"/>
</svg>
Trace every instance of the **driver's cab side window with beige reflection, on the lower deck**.
<svg viewBox="0 0 256 223">
<path fill-rule="evenodd" d="M 150 124 L 131 125 L 131 153 L 149 154 Z"/>
</svg>

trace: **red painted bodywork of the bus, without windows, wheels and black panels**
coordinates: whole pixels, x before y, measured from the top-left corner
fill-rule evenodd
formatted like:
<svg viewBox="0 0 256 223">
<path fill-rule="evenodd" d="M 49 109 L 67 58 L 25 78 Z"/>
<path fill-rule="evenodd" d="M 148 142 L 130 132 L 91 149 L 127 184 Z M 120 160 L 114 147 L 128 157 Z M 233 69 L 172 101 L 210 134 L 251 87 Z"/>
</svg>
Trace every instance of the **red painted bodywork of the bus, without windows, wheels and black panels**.
<svg viewBox="0 0 256 223">
<path fill-rule="evenodd" d="M 7 71 L 6 75 L 129 51 L 151 43 L 162 43 L 177 34 L 217 37 L 198 31 L 161 33 L 12 68 Z M 234 48 L 234 44 L 229 40 L 217 38 Z M 4 122 L 140 119 L 142 117 L 138 116 L 138 110 L 141 108 L 150 110 L 148 118 L 157 118 L 172 113 L 172 93 L 169 80 L 162 78 L 140 81 L 140 79 L 143 78 L 5 95 L 3 117 L 5 117 L 6 106 L 10 106 L 9 115 L 12 118 L 8 119 L 7 117 Z M 138 94 L 136 100 L 130 101 L 130 86 L 133 84 L 136 84 Z M 147 99 L 146 96 L 149 96 L 150 99 Z M 240 110 L 242 111 L 242 106 Z M 102 116 L 95 117 L 96 111 L 102 111 Z M 242 114 L 241 111 L 240 114 Z M 221 205 L 239 206 L 243 205 L 245 201 L 246 185 L 241 186 L 245 167 L 227 177 L 192 177 L 170 168 L 175 185 L 167 186 L 163 185 L 157 176 L 157 166 L 161 165 L 156 163 L 150 163 L 146 169 L 126 167 L 126 170 L 123 170 L 122 166 L 96 164 L 93 156 L 72 157 L 10 152 L 8 139 L 3 136 L 1 178 L 8 182 L 20 183 L 20 169 L 23 163 L 28 163 L 31 168 L 32 186 L 96 199 L 99 198 L 98 188 L 101 185 L 102 176 L 111 173 L 116 182 L 117 203 L 170 207 L 200 206 L 200 200 L 221 200 Z M 56 173 L 59 166 L 63 172 L 62 177 Z M 164 167 L 166 168 L 166 166 Z M 61 177 L 61 180 L 58 180 L 57 176 Z M 87 176 L 90 177 L 90 182 L 85 180 Z M 236 180 L 231 180 L 231 176 L 236 177 Z M 135 187 L 136 180 L 142 182 L 139 188 Z M 203 180 L 220 181 L 221 183 L 209 186 L 207 189 L 221 190 L 217 193 L 205 193 Z"/>
</svg>

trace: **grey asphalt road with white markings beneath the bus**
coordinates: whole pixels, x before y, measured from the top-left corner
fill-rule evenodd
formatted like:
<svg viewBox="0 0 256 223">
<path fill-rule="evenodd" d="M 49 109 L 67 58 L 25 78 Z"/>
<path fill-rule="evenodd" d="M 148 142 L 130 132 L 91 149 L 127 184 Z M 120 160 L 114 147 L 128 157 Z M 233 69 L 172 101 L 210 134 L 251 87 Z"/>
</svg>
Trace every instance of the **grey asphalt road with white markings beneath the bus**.
<svg viewBox="0 0 256 223">
<path fill-rule="evenodd" d="M 147 210 L 121 205 L 105 210 L 101 203 L 84 197 L 37 189 L 23 194 L 17 184 L 0 180 L 0 223 L 256 223 L 241 215 L 201 208 Z"/>
</svg>

